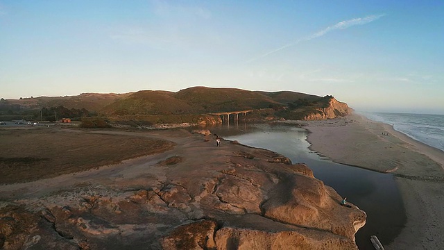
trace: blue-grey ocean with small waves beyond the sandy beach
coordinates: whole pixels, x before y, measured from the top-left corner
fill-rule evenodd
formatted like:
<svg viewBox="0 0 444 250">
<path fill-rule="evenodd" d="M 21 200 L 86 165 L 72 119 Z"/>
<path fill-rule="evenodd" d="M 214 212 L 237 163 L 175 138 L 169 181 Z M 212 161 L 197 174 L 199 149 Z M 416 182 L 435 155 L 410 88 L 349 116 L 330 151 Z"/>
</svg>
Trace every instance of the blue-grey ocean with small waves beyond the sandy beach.
<svg viewBox="0 0 444 250">
<path fill-rule="evenodd" d="M 406 113 L 361 113 L 361 115 L 376 122 L 390 124 L 395 131 L 444 151 L 444 115 Z"/>
</svg>

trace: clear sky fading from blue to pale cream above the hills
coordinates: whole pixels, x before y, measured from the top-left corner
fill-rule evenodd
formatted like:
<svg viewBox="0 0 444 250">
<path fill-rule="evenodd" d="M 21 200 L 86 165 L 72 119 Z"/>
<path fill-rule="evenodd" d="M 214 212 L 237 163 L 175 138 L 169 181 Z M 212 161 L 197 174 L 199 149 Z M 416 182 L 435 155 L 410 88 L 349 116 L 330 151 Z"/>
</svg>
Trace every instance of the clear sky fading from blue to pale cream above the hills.
<svg viewBox="0 0 444 250">
<path fill-rule="evenodd" d="M 444 114 L 444 1 L 0 0 L 0 97 L 207 86 Z"/>
</svg>

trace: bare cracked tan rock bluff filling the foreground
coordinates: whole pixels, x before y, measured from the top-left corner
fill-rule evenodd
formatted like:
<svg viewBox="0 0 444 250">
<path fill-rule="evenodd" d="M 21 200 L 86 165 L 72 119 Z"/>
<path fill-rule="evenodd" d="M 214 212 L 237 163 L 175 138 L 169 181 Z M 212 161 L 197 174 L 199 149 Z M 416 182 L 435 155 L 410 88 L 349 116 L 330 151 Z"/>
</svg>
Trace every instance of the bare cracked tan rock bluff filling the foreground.
<svg viewBox="0 0 444 250">
<path fill-rule="evenodd" d="M 357 249 L 366 213 L 341 206 L 341 196 L 303 163 L 236 142 L 216 147 L 207 131 L 82 133 L 175 146 L 86 172 L 1 185 L 0 248 Z"/>
</svg>

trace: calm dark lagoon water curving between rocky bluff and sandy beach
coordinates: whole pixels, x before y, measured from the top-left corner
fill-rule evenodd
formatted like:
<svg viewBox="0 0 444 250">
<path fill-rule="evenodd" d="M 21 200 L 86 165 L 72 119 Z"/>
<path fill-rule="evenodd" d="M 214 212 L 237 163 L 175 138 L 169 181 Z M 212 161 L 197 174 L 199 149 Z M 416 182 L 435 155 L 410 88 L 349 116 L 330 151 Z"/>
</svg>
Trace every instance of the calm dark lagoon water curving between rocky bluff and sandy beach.
<svg viewBox="0 0 444 250">
<path fill-rule="evenodd" d="M 388 244 L 402 229 L 405 213 L 393 176 L 321 158 L 308 149 L 305 129 L 288 124 L 242 124 L 210 130 L 225 140 L 237 140 L 251 147 L 281 153 L 293 163 L 306 163 L 316 178 L 365 210 L 366 226 L 356 234 L 359 249 L 374 249 L 370 235 L 377 235 L 382 244 Z"/>
</svg>

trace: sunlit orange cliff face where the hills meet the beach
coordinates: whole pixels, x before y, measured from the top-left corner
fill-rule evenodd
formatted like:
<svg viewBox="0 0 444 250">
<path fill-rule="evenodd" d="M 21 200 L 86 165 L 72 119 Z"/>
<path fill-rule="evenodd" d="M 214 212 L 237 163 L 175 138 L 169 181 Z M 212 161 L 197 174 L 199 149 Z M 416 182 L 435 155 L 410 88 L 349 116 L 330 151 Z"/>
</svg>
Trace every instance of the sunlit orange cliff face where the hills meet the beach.
<svg viewBox="0 0 444 250">
<path fill-rule="evenodd" d="M 334 119 L 337 117 L 344 117 L 352 113 L 352 108 L 349 108 L 347 103 L 343 103 L 334 98 L 330 99 L 326 108 L 316 108 L 315 112 L 305 115 L 303 119 Z"/>
</svg>

